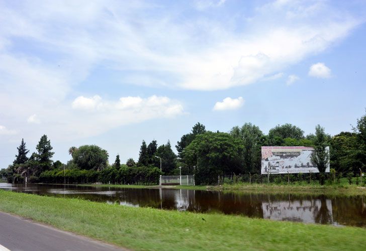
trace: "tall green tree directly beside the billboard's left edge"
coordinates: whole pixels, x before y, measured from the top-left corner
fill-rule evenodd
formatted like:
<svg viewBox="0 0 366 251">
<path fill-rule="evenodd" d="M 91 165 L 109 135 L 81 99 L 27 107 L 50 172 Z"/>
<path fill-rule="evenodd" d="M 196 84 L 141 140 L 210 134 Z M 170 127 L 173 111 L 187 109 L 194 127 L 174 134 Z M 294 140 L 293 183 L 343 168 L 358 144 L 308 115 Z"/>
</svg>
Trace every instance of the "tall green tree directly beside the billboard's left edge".
<svg viewBox="0 0 366 251">
<path fill-rule="evenodd" d="M 241 128 L 234 127 L 230 134 L 241 140 L 243 149 L 243 165 L 245 172 L 259 172 L 261 158 L 261 140 L 263 137 L 259 127 L 251 123 L 245 123 Z"/>
</svg>

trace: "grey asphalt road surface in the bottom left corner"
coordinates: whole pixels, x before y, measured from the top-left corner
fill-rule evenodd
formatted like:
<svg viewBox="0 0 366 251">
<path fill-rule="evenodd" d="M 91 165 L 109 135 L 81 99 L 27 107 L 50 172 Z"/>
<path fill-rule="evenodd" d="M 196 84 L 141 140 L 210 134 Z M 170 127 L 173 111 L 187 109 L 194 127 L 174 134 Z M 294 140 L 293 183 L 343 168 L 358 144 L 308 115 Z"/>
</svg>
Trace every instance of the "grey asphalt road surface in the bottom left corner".
<svg viewBox="0 0 366 251">
<path fill-rule="evenodd" d="M 14 251 L 126 250 L 0 212 L 0 250 L 6 248 Z"/>
</svg>

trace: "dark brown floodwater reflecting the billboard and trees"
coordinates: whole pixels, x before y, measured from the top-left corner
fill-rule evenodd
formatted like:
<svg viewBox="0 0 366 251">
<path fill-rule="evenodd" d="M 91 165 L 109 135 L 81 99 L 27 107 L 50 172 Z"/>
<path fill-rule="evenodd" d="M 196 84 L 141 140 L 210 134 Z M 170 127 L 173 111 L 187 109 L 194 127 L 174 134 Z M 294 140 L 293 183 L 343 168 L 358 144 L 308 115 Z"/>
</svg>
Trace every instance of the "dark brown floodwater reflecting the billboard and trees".
<svg viewBox="0 0 366 251">
<path fill-rule="evenodd" d="M 272 220 L 366 227 L 366 196 L 232 193 L 166 188 L 12 185 L 0 189 L 135 207 L 244 215 Z"/>
</svg>

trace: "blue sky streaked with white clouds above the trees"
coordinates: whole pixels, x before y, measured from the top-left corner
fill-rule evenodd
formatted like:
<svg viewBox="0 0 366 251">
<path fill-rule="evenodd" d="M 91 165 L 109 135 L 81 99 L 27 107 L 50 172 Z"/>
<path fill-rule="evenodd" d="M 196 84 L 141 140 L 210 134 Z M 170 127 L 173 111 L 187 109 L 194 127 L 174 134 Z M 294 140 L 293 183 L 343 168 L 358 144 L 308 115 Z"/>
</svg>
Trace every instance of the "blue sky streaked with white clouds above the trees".
<svg viewBox="0 0 366 251">
<path fill-rule="evenodd" d="M 94 144 L 113 163 L 197 122 L 351 131 L 365 17 L 362 0 L 0 0 L 0 168 L 44 134 L 54 161 Z"/>
</svg>

